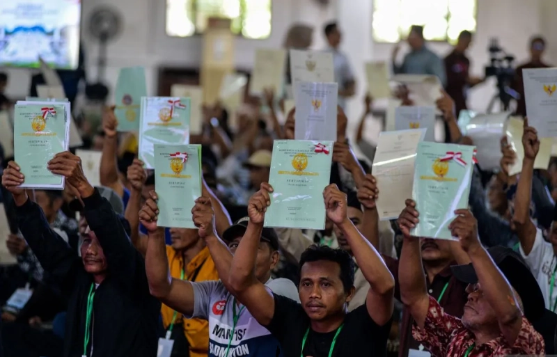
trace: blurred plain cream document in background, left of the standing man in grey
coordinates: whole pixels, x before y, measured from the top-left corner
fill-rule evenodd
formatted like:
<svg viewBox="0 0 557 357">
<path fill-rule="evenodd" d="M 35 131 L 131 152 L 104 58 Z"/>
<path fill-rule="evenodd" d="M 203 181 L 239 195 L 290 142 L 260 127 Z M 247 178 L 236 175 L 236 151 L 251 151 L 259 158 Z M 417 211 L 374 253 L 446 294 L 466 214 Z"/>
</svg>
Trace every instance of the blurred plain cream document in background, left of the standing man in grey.
<svg viewBox="0 0 557 357">
<path fill-rule="evenodd" d="M 263 90 L 268 88 L 278 95 L 283 88 L 285 61 L 285 49 L 256 49 L 256 61 L 249 79 L 249 93 L 262 95 Z"/>
</svg>

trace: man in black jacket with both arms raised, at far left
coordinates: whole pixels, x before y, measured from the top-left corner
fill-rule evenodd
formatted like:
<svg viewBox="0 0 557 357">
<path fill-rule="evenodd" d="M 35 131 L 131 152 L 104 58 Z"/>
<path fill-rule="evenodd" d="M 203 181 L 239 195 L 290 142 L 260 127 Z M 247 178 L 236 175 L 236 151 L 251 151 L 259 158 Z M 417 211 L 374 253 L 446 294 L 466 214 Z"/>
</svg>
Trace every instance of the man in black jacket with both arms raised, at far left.
<svg viewBox="0 0 557 357">
<path fill-rule="evenodd" d="M 129 225 L 87 182 L 79 157 L 56 154 L 47 168 L 65 177 L 84 204 L 88 227 L 81 257 L 19 189 L 26 177 L 14 161 L 2 184 L 13 194 L 17 224 L 29 247 L 69 298 L 63 356 L 155 356 L 160 303 L 149 294 L 145 262 L 130 244 Z"/>
</svg>

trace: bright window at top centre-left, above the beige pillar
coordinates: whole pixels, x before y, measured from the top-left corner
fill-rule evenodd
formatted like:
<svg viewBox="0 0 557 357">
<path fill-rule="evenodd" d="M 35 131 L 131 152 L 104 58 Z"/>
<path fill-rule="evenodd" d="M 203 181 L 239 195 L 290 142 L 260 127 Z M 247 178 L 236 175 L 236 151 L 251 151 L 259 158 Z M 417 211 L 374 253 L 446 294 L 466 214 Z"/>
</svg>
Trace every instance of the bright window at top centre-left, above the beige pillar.
<svg viewBox="0 0 557 357">
<path fill-rule="evenodd" d="M 203 33 L 209 17 L 232 20 L 230 30 L 244 38 L 271 34 L 271 0 L 166 0 L 166 34 L 188 37 Z"/>
</svg>

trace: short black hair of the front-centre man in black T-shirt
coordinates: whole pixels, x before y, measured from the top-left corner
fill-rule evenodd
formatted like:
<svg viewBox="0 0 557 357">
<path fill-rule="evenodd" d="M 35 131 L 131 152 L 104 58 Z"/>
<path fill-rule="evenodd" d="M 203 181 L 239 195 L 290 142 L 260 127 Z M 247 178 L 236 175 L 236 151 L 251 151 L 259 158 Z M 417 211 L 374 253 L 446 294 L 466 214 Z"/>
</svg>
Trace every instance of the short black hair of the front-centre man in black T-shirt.
<svg viewBox="0 0 557 357">
<path fill-rule="evenodd" d="M 343 282 L 345 292 L 350 292 L 354 286 L 354 260 L 350 254 L 342 249 L 333 249 L 330 246 L 322 246 L 320 244 L 312 244 L 304 253 L 301 253 L 299 263 L 299 273 L 301 276 L 301 267 L 306 262 L 317 262 L 317 260 L 329 260 L 340 265 L 340 280 Z"/>
</svg>

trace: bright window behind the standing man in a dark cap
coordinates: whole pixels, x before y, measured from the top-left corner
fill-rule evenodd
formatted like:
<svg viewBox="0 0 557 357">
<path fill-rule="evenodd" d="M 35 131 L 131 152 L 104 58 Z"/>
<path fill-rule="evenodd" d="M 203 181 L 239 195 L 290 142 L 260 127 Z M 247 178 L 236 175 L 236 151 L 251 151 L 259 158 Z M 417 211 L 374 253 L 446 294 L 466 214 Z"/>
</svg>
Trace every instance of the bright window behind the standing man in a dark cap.
<svg viewBox="0 0 557 357">
<path fill-rule="evenodd" d="M 398 42 L 412 25 L 423 26 L 426 40 L 454 43 L 461 31 L 476 31 L 476 0 L 373 1 L 375 41 Z"/>
</svg>

